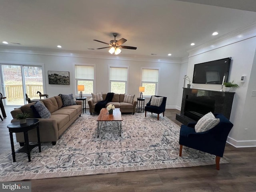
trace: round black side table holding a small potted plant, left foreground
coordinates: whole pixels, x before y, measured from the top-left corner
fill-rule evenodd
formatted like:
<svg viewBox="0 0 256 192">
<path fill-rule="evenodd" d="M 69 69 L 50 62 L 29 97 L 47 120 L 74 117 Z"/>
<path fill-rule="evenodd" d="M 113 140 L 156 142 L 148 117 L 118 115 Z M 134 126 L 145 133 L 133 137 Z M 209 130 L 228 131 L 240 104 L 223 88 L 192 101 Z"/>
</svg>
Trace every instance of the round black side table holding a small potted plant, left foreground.
<svg viewBox="0 0 256 192">
<path fill-rule="evenodd" d="M 39 133 L 39 120 L 38 119 L 27 119 L 26 123 L 20 124 L 19 121 L 12 122 L 7 126 L 10 132 L 10 140 L 11 140 L 11 146 L 12 146 L 12 159 L 13 162 L 16 162 L 15 159 L 15 154 L 16 153 L 27 153 L 28 154 L 28 162 L 31 161 L 30 159 L 30 151 L 34 149 L 36 146 L 39 148 L 39 152 L 41 152 L 41 142 L 40 142 L 40 133 Z M 28 131 L 36 128 L 37 132 L 37 140 L 38 144 L 30 145 L 28 141 Z M 23 132 L 24 134 L 24 140 L 25 140 L 25 145 L 18 150 L 14 150 L 14 142 L 13 142 L 13 135 L 12 133 L 19 133 Z"/>
</svg>

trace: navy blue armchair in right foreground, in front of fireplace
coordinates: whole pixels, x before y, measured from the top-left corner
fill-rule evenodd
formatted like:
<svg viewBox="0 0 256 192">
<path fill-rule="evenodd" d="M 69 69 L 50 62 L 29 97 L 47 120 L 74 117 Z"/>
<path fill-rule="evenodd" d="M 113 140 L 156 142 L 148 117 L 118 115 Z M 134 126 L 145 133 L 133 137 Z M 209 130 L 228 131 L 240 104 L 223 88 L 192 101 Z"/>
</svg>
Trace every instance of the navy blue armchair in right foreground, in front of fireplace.
<svg viewBox="0 0 256 192">
<path fill-rule="evenodd" d="M 194 127 L 196 123 L 189 123 L 188 126 L 180 127 L 180 156 L 182 155 L 182 146 L 187 146 L 196 150 L 216 155 L 216 169 L 220 170 L 220 158 L 223 157 L 226 140 L 233 124 L 222 114 L 214 114 L 220 119 L 218 125 L 205 132 L 196 132 Z"/>
</svg>

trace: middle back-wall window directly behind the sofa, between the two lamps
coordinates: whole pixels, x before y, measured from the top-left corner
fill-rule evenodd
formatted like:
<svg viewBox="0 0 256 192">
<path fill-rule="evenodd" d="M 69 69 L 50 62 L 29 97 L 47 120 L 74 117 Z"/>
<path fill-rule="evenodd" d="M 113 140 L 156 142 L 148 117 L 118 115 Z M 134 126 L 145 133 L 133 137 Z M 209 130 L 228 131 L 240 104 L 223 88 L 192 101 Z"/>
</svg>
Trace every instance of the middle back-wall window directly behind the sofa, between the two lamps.
<svg viewBox="0 0 256 192">
<path fill-rule="evenodd" d="M 126 93 L 128 68 L 110 67 L 110 92 Z"/>
</svg>

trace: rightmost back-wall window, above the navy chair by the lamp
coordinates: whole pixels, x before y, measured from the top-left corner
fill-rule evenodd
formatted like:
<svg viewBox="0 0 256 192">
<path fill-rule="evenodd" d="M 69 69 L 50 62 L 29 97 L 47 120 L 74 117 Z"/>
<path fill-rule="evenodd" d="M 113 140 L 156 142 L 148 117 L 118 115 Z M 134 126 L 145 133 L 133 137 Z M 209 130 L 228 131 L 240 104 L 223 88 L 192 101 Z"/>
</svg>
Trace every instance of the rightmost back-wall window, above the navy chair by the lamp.
<svg viewBox="0 0 256 192">
<path fill-rule="evenodd" d="M 144 96 L 157 94 L 158 69 L 142 69 L 142 87 L 145 87 Z"/>
</svg>

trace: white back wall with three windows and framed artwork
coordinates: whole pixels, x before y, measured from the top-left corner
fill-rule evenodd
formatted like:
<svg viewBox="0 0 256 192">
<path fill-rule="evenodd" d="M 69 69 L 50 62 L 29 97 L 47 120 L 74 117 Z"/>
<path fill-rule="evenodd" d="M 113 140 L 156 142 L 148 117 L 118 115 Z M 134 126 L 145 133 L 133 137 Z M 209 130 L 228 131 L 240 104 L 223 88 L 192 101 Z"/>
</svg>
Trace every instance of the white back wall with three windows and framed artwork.
<svg viewBox="0 0 256 192">
<path fill-rule="evenodd" d="M 180 78 L 181 60 L 166 60 L 155 58 L 126 58 L 122 56 L 92 56 L 83 53 L 50 52 L 42 50 L 17 50 L 1 49 L 0 63 L 24 62 L 26 64 L 42 63 L 46 80 L 45 94 L 56 96 L 60 93 L 75 95 L 74 64 L 95 64 L 96 66 L 96 90 L 94 92 L 109 92 L 108 65 L 129 66 L 128 93 L 140 96 L 139 86 L 141 82 L 141 67 L 158 67 L 159 88 L 158 95 L 166 96 L 166 108 L 177 107 L 177 90 Z M 70 85 L 48 84 L 48 70 L 70 72 Z M 78 95 L 77 95 L 78 96 Z M 89 95 L 90 96 L 90 95 Z M 148 102 L 149 99 L 146 99 Z"/>
</svg>

